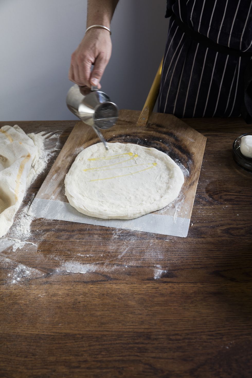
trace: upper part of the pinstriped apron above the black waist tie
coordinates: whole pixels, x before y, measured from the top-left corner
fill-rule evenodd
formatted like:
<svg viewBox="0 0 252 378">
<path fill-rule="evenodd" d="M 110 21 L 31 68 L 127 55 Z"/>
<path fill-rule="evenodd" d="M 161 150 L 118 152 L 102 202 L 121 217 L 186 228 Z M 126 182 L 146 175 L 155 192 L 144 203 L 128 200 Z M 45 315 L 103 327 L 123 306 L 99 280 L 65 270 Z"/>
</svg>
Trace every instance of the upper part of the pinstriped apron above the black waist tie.
<svg viewBox="0 0 252 378">
<path fill-rule="evenodd" d="M 167 0 L 166 17 L 172 13 L 220 45 L 252 51 L 251 0 Z"/>
</svg>

